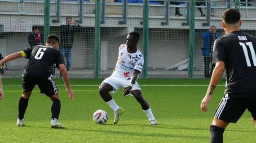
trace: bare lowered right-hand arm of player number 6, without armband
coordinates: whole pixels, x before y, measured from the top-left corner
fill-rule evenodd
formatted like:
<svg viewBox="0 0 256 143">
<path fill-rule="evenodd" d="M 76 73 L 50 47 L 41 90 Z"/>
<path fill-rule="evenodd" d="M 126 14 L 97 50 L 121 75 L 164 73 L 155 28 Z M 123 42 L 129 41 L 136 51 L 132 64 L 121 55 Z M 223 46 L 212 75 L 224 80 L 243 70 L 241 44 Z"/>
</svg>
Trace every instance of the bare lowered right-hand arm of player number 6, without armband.
<svg viewBox="0 0 256 143">
<path fill-rule="evenodd" d="M 73 92 L 73 90 L 71 89 L 70 87 L 70 84 L 69 84 L 69 76 L 68 76 L 68 73 L 66 71 L 66 67 L 64 64 L 59 64 L 59 69 L 61 71 L 61 74 L 62 74 L 62 78 L 63 78 L 63 81 L 65 83 L 65 86 L 66 86 L 66 91 L 67 93 L 69 93 L 69 99 L 74 99 L 75 98 L 75 93 Z"/>
</svg>

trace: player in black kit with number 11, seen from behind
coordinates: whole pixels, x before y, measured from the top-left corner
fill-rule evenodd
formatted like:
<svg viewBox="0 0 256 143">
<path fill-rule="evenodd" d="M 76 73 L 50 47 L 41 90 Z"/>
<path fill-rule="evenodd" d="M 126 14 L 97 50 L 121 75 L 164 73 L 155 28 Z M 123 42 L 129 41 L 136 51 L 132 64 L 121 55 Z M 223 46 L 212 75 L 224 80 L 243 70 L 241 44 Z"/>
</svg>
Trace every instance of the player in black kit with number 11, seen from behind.
<svg viewBox="0 0 256 143">
<path fill-rule="evenodd" d="M 227 79 L 225 96 L 210 126 L 211 143 L 223 143 L 225 128 L 230 122 L 236 123 L 246 109 L 256 127 L 256 38 L 239 31 L 240 17 L 236 9 L 223 12 L 221 23 L 226 34 L 216 39 L 213 47 L 215 68 L 201 103 L 203 112 L 208 111 L 207 105 L 224 71 Z"/>
</svg>

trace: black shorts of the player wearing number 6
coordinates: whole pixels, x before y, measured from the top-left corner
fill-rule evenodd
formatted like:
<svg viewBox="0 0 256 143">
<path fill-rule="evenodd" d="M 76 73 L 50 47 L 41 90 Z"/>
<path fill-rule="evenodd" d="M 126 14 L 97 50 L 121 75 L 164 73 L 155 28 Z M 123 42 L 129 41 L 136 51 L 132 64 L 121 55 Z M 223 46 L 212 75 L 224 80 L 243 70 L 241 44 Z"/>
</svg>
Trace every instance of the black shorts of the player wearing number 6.
<svg viewBox="0 0 256 143">
<path fill-rule="evenodd" d="M 53 81 L 52 76 L 34 76 L 29 74 L 22 75 L 22 88 L 24 92 L 32 91 L 35 84 L 38 85 L 41 93 L 46 94 L 48 97 L 58 93 L 57 86 Z"/>
</svg>

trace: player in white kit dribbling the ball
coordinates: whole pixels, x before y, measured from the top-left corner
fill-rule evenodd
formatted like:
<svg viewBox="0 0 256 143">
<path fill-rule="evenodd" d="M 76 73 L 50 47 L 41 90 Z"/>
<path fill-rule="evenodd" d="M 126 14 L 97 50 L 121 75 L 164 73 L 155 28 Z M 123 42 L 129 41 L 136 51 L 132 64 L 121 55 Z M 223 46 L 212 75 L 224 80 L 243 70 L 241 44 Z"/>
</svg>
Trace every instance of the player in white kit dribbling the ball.
<svg viewBox="0 0 256 143">
<path fill-rule="evenodd" d="M 149 118 L 150 125 L 158 125 L 150 105 L 142 97 L 141 88 L 136 81 L 144 63 L 144 57 L 137 48 L 139 38 L 140 35 L 135 31 L 128 34 L 126 44 L 119 46 L 118 60 L 114 72 L 102 82 L 99 88 L 102 99 L 114 110 L 114 124 L 119 121 L 124 109 L 115 103 L 109 92 L 116 93 L 119 88 L 124 88 L 124 96 L 131 93 L 141 104 L 141 108 Z"/>
</svg>

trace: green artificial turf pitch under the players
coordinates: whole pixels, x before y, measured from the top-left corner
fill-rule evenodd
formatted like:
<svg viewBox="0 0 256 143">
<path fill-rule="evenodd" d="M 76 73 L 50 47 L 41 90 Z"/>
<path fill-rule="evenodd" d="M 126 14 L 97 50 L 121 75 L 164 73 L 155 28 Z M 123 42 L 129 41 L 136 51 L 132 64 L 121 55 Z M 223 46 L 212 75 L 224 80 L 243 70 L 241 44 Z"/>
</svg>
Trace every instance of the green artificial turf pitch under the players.
<svg viewBox="0 0 256 143">
<path fill-rule="evenodd" d="M 209 143 L 209 126 L 225 88 L 222 80 L 208 105 L 209 111 L 202 113 L 200 103 L 207 90 L 204 85 L 209 80 L 140 79 L 138 83 L 142 94 L 159 125 L 149 126 L 134 97 L 123 97 L 122 91 L 113 95 L 116 103 L 125 109 L 114 125 L 113 111 L 99 96 L 98 86 L 93 86 L 100 85 L 102 79 L 72 79 L 71 85 L 83 85 L 72 87 L 75 92 L 73 101 L 68 99 L 63 82 L 59 79 L 55 81 L 62 104 L 59 121 L 67 129 L 50 127 L 51 101 L 40 94 L 38 87 L 35 87 L 29 100 L 26 126 L 17 127 L 21 80 L 4 79 L 5 96 L 0 101 L 0 143 Z M 93 122 L 93 113 L 97 109 L 108 113 L 109 120 L 105 125 Z M 226 128 L 224 142 L 254 143 L 256 129 L 251 120 L 250 113 L 246 111 L 237 124 Z"/>
</svg>

